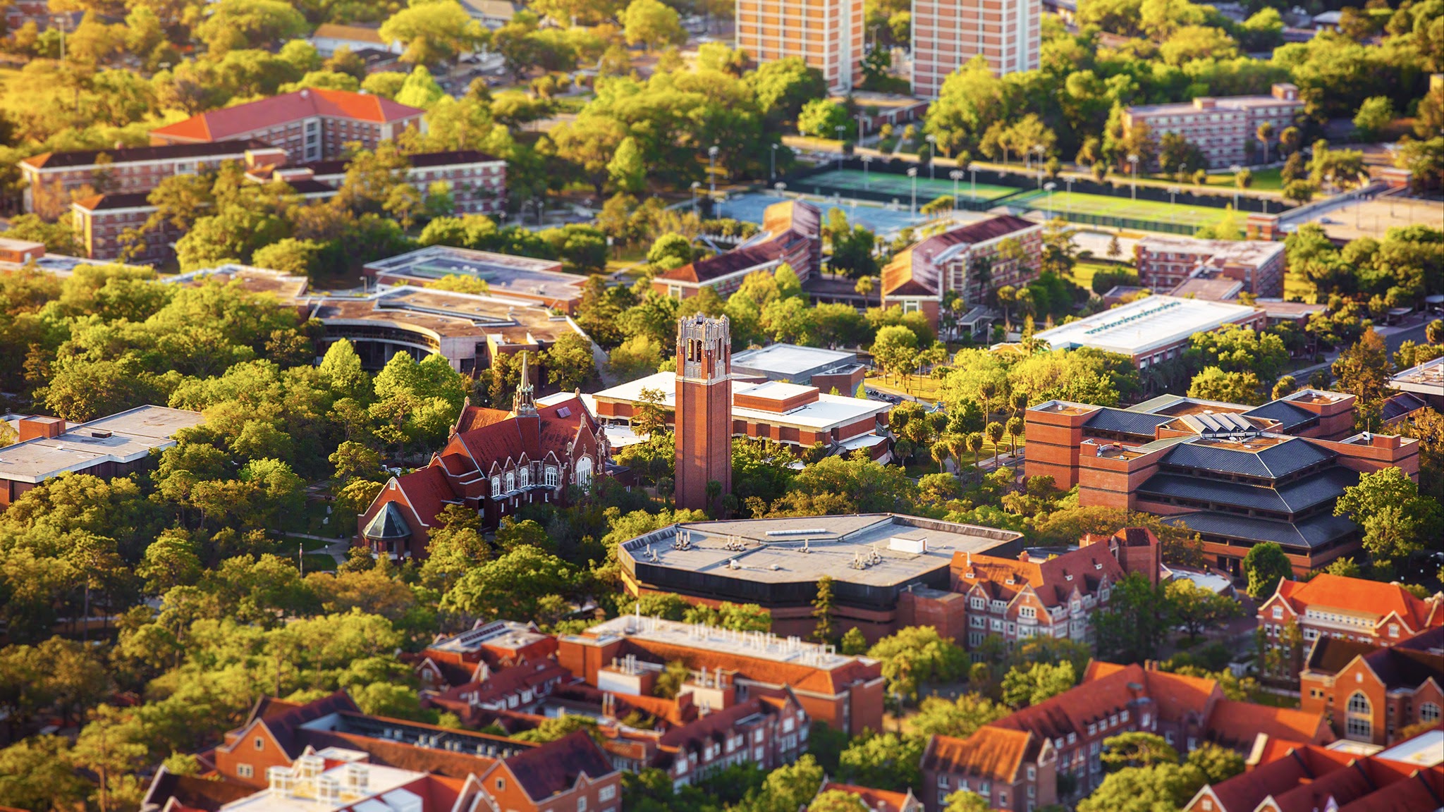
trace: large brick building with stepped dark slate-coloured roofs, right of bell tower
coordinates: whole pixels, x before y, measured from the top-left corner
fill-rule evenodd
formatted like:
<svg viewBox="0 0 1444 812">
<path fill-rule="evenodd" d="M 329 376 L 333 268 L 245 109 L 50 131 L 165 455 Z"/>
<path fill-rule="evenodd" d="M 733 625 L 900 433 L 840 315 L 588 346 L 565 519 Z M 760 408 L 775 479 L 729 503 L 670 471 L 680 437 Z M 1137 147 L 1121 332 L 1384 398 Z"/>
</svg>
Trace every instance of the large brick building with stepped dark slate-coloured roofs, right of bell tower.
<svg viewBox="0 0 1444 812">
<path fill-rule="evenodd" d="M 1354 555 L 1359 527 L 1333 514 L 1343 490 L 1379 468 L 1419 471 L 1417 441 L 1353 433 L 1353 396 L 1311 389 L 1253 407 L 1051 400 L 1028 409 L 1027 428 L 1027 475 L 1079 485 L 1079 504 L 1165 516 L 1235 576 L 1261 542 L 1281 545 L 1300 575 Z"/>
</svg>

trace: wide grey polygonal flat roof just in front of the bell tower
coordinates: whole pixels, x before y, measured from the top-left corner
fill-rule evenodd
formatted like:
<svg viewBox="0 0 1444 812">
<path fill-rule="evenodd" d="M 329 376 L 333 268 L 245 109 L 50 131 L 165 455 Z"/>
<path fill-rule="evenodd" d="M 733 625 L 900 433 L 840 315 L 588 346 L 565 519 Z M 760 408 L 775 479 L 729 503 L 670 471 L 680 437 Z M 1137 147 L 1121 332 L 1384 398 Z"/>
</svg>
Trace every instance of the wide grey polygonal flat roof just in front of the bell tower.
<svg viewBox="0 0 1444 812">
<path fill-rule="evenodd" d="M 748 581 L 807 582 L 832 575 L 851 584 L 892 587 L 949 566 L 954 552 L 982 553 L 1018 537 L 1021 533 L 992 527 L 871 513 L 689 522 L 631 539 L 621 549 L 650 566 Z M 679 539 L 686 543 L 676 545 Z M 926 550 L 892 549 L 894 539 L 926 542 Z M 853 566 L 874 552 L 875 563 Z"/>
</svg>

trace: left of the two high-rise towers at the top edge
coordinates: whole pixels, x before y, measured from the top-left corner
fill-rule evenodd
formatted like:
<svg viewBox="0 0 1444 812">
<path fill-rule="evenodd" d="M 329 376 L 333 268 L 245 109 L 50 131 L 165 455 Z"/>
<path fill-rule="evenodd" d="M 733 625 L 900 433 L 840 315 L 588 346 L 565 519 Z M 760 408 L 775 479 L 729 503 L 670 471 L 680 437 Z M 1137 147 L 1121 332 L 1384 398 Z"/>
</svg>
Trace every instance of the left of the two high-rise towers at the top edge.
<svg viewBox="0 0 1444 812">
<path fill-rule="evenodd" d="M 797 56 L 829 92 L 862 84 L 862 0 L 736 0 L 735 48 L 758 62 Z"/>
</svg>

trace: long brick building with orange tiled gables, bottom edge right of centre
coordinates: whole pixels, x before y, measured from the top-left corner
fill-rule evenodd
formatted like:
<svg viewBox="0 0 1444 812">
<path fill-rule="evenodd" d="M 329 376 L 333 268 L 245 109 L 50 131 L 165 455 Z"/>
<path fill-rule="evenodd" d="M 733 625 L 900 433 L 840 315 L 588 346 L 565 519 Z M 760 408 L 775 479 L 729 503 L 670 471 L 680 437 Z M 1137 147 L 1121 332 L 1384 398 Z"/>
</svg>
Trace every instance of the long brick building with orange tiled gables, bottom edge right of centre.
<svg viewBox="0 0 1444 812">
<path fill-rule="evenodd" d="M 1015 735 L 999 735 L 999 730 Z M 1103 780 L 1103 740 L 1126 731 L 1161 735 L 1180 753 L 1206 741 L 1248 753 L 1259 733 L 1301 743 L 1333 741 L 1321 714 L 1232 701 L 1213 679 L 1161 672 L 1151 663 L 1095 660 L 1077 688 L 967 738 L 934 737 L 927 748 L 931 757 L 923 761 L 923 802 L 937 812 L 966 782 L 972 792 L 991 793 L 995 809 L 1030 812 L 1056 802 L 1054 774 L 1069 776 L 1070 798 L 1086 796 Z"/>
</svg>

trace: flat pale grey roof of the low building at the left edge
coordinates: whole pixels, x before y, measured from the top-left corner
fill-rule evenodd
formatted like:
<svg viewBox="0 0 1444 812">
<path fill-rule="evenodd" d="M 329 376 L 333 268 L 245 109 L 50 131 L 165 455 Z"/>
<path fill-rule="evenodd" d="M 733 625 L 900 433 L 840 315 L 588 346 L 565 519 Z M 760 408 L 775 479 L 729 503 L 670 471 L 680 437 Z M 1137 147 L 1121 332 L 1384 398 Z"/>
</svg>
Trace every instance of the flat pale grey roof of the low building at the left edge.
<svg viewBox="0 0 1444 812">
<path fill-rule="evenodd" d="M 104 462 L 134 462 L 152 449 L 175 445 L 175 433 L 204 422 L 199 412 L 137 406 L 69 426 L 58 438 L 36 438 L 0 448 L 0 480 L 42 483 L 65 471 Z M 95 436 L 97 433 L 110 436 Z"/>
</svg>

